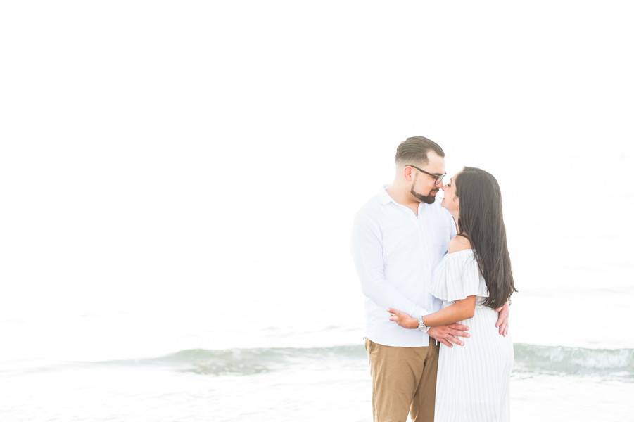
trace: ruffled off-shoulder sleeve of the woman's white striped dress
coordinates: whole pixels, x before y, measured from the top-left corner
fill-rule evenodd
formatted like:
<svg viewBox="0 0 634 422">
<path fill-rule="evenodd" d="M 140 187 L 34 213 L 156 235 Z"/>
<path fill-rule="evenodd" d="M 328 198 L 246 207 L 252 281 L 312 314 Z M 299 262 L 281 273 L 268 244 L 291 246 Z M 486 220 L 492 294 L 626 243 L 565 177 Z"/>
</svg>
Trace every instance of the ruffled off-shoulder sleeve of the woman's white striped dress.
<svg viewBox="0 0 634 422">
<path fill-rule="evenodd" d="M 433 275 L 431 294 L 447 302 L 468 296 L 488 298 L 488 288 L 472 251 L 455 252 L 444 257 Z"/>
</svg>

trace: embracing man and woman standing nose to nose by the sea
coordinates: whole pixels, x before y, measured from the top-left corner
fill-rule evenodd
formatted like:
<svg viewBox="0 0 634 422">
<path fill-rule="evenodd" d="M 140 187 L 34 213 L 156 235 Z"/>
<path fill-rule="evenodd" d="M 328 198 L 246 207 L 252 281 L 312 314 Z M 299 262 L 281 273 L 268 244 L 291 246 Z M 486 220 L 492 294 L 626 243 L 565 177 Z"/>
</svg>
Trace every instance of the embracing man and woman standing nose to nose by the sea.
<svg viewBox="0 0 634 422">
<path fill-rule="evenodd" d="M 423 136 L 400 143 L 393 183 L 355 218 L 374 422 L 509 421 L 516 290 L 500 186 L 475 167 L 445 179 L 444 157 Z"/>
</svg>

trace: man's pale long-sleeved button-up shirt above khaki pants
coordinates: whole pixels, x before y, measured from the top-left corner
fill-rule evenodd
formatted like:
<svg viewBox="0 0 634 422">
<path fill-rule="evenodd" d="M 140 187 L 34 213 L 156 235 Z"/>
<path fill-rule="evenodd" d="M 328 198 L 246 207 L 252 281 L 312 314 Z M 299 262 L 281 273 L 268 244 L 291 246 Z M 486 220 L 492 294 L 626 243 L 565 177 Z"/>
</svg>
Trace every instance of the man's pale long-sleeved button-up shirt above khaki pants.
<svg viewBox="0 0 634 422">
<path fill-rule="evenodd" d="M 415 215 L 385 188 L 361 208 L 353 226 L 353 259 L 366 296 L 366 337 L 387 346 L 427 346 L 429 335 L 398 326 L 387 309 L 414 318 L 440 309 L 442 302 L 429 286 L 456 234 L 455 223 L 439 201 L 420 203 Z"/>
</svg>

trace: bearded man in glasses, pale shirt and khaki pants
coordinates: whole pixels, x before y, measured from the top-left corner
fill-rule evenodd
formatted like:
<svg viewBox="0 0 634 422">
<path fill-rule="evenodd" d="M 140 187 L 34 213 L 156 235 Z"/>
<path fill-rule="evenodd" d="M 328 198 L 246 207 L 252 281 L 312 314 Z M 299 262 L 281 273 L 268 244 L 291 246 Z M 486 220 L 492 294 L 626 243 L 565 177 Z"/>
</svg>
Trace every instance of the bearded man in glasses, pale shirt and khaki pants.
<svg viewBox="0 0 634 422">
<path fill-rule="evenodd" d="M 433 421 L 438 342 L 464 345 L 462 324 L 407 330 L 389 319 L 388 308 L 424 316 L 441 307 L 429 293 L 433 268 L 442 259 L 456 226 L 435 203 L 443 186 L 445 153 L 437 143 L 414 136 L 396 151 L 396 174 L 357 213 L 352 252 L 366 296 L 365 347 L 372 376 L 375 422 Z M 507 329 L 508 305 L 496 326 Z"/>
</svg>

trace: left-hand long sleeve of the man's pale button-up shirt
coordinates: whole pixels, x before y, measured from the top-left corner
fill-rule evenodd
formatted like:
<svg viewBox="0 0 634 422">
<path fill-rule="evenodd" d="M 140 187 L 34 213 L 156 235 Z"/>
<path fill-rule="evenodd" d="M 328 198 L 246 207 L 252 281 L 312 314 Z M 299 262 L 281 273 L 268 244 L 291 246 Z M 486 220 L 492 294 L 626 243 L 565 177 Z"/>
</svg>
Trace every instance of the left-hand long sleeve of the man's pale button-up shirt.
<svg viewBox="0 0 634 422">
<path fill-rule="evenodd" d="M 363 294 L 383 309 L 393 307 L 410 316 L 431 314 L 429 309 L 402 295 L 385 277 L 379 224 L 358 214 L 353 224 L 352 255 Z"/>
</svg>

